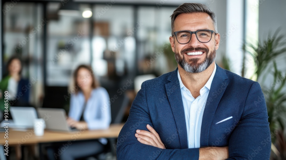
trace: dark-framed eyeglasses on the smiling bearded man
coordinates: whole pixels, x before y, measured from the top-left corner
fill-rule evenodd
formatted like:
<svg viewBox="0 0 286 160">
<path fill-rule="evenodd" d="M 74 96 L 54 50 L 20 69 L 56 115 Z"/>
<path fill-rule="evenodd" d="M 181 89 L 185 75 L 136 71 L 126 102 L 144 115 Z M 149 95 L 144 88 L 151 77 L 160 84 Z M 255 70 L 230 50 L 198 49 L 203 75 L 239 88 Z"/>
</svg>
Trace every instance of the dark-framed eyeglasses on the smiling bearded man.
<svg viewBox="0 0 286 160">
<path fill-rule="evenodd" d="M 208 43 L 212 39 L 212 33 L 215 31 L 208 29 L 201 29 L 197 31 L 176 31 L 173 33 L 180 44 L 187 44 L 190 42 L 192 34 L 195 34 L 198 41 L 201 43 Z M 217 34 L 217 33 L 215 33 Z"/>
</svg>

